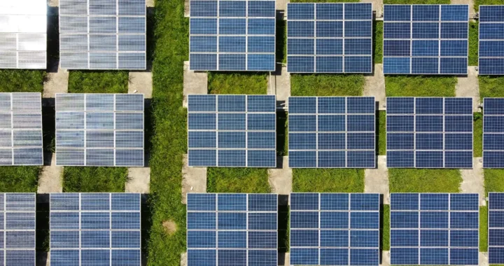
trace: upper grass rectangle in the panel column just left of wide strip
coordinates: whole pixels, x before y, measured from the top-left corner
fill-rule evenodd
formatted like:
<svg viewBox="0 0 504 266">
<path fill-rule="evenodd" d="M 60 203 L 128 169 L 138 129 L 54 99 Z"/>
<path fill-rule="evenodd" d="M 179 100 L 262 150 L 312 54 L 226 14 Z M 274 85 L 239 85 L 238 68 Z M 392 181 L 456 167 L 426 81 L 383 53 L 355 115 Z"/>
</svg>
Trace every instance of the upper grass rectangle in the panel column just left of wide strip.
<svg viewBox="0 0 504 266">
<path fill-rule="evenodd" d="M 127 93 L 128 71 L 70 71 L 71 93 Z"/>
</svg>

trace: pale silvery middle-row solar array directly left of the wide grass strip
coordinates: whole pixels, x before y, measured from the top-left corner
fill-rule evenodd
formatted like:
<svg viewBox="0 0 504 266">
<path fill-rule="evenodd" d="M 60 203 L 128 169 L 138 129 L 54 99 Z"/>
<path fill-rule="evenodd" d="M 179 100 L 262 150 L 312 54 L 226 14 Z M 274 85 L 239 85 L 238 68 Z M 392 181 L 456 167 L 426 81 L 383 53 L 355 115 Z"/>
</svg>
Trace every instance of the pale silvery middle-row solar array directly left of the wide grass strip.
<svg viewBox="0 0 504 266">
<path fill-rule="evenodd" d="M 56 94 L 56 165 L 144 166 L 144 94 Z"/>
</svg>

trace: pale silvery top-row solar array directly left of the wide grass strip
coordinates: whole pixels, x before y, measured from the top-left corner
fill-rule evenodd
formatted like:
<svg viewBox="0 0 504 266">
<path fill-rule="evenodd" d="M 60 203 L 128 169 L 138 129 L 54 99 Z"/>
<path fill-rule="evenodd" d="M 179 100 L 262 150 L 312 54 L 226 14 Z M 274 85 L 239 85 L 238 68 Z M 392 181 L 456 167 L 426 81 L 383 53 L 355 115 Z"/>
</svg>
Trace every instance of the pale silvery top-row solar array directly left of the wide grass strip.
<svg viewBox="0 0 504 266">
<path fill-rule="evenodd" d="M 62 69 L 146 69 L 146 0 L 60 0 Z"/>
</svg>

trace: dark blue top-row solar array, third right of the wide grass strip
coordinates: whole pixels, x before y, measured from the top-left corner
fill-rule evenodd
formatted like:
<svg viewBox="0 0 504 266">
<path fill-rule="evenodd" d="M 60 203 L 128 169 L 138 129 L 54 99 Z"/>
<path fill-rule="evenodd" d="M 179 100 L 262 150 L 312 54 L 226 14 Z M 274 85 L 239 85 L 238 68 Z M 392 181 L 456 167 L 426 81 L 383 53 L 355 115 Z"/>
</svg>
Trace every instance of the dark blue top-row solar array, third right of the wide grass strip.
<svg viewBox="0 0 504 266">
<path fill-rule="evenodd" d="M 384 5 L 384 73 L 466 74 L 468 5 Z"/>
</svg>

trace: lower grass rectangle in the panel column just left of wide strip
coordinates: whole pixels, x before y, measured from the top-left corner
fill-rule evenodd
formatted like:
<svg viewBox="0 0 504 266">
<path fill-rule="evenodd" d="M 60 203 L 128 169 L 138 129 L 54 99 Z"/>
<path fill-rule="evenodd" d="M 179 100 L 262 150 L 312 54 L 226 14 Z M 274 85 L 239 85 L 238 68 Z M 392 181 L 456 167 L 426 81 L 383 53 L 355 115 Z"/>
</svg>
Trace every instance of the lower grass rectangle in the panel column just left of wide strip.
<svg viewBox="0 0 504 266">
<path fill-rule="evenodd" d="M 125 191 L 126 167 L 64 167 L 63 192 Z"/>
</svg>

